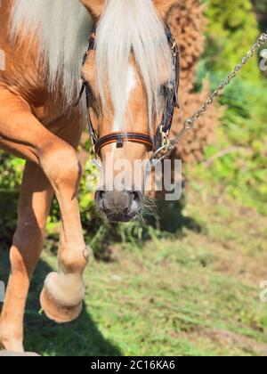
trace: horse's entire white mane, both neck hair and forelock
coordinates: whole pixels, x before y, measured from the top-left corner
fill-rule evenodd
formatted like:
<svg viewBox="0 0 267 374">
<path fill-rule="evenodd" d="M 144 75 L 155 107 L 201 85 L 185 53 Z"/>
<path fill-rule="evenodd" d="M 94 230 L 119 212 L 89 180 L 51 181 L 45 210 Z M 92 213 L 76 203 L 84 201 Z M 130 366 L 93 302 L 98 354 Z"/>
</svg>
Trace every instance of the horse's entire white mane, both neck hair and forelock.
<svg viewBox="0 0 267 374">
<path fill-rule="evenodd" d="M 12 0 L 12 38 L 39 37 L 50 88 L 62 85 L 66 103 L 77 93 L 82 57 L 93 20 L 78 0 Z M 106 0 L 97 28 L 96 71 L 101 102 L 108 84 L 117 123 L 123 126 L 129 56 L 134 53 L 147 91 L 149 119 L 158 104 L 158 70 L 171 75 L 165 29 L 151 0 Z"/>
</svg>

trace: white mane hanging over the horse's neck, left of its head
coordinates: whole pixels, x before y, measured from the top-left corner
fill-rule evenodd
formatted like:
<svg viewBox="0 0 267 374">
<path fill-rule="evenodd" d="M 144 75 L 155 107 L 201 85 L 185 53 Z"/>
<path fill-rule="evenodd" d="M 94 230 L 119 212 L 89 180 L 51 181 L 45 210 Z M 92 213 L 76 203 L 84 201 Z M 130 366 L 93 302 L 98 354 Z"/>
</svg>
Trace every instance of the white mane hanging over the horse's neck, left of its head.
<svg viewBox="0 0 267 374">
<path fill-rule="evenodd" d="M 48 65 L 50 88 L 62 85 L 66 103 L 77 93 L 82 58 L 93 26 L 78 0 L 13 0 L 12 38 L 19 30 L 33 41 L 39 37 L 39 59 Z"/>
</svg>

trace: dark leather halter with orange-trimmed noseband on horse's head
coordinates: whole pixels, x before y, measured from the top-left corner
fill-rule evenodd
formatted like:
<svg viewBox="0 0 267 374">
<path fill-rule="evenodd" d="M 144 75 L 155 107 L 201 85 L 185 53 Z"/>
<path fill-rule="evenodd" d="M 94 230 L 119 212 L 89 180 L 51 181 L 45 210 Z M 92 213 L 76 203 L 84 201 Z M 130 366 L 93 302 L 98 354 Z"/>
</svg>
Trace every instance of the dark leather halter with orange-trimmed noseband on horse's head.
<svg viewBox="0 0 267 374">
<path fill-rule="evenodd" d="M 150 134 L 142 134 L 142 133 L 111 133 L 105 136 L 99 137 L 94 129 L 93 129 L 93 122 L 90 115 L 90 98 L 91 98 L 91 89 L 89 83 L 85 80 L 85 77 L 82 77 L 83 84 L 78 96 L 77 105 L 81 101 L 83 94 L 85 93 L 86 96 L 86 106 L 87 106 L 87 125 L 88 131 L 91 137 L 91 141 L 93 143 L 93 150 L 95 154 L 99 154 L 101 148 L 104 146 L 116 143 L 117 148 L 122 148 L 125 142 L 139 142 L 147 146 L 150 151 L 158 151 L 166 144 L 168 144 L 168 135 L 170 133 L 170 129 L 174 119 L 174 108 L 179 107 L 178 103 L 178 88 L 179 88 L 179 73 L 180 73 L 180 63 L 179 63 L 179 48 L 176 44 L 174 37 L 171 34 L 170 28 L 166 24 L 166 38 L 168 44 L 171 48 L 172 59 L 173 59 L 173 70 L 174 70 L 174 77 L 171 81 L 169 81 L 166 85 L 162 87 L 164 97 L 165 97 L 165 107 L 161 119 L 161 123 L 157 128 L 157 132 L 154 137 L 150 136 Z M 85 53 L 83 66 L 85 65 L 85 61 L 87 55 L 90 51 L 95 49 L 96 44 L 96 35 L 95 29 L 93 29 L 90 37 L 89 37 L 89 46 Z"/>
</svg>

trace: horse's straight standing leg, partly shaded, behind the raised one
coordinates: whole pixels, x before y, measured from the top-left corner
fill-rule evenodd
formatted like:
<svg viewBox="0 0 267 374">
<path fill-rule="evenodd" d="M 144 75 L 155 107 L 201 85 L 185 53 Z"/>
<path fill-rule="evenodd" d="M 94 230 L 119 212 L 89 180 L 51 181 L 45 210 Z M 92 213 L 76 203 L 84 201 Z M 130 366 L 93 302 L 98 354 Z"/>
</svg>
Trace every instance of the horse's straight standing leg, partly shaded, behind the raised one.
<svg viewBox="0 0 267 374">
<path fill-rule="evenodd" d="M 0 342 L 23 352 L 23 316 L 31 274 L 41 254 L 53 189 L 40 167 L 28 162 L 20 190 L 19 221 L 10 252 L 11 274 L 0 318 Z"/>
</svg>

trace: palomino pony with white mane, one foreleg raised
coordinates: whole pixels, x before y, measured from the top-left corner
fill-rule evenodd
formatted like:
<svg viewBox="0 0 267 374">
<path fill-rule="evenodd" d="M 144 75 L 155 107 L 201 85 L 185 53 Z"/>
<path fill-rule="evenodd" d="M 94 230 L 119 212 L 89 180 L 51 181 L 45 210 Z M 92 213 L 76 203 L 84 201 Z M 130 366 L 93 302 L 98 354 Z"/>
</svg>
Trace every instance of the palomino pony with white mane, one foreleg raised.
<svg viewBox="0 0 267 374">
<path fill-rule="evenodd" d="M 85 111 L 75 106 L 83 76 L 103 167 L 112 159 L 148 159 L 164 111 L 160 88 L 173 79 L 164 20 L 174 0 L 0 0 L 0 147 L 26 159 L 12 271 L 0 320 L 5 349 L 23 352 L 23 315 L 31 274 L 41 254 L 55 194 L 61 207 L 59 271 L 50 273 L 40 301 L 53 321 L 81 312 L 88 251 L 77 201 L 77 159 Z M 114 134 L 126 132 L 129 139 Z M 113 134 L 113 135 L 112 135 Z M 133 137 L 131 138 L 131 136 Z M 104 181 L 105 186 L 107 181 Z M 108 217 L 129 221 L 142 208 L 142 190 L 97 192 Z"/>
</svg>

